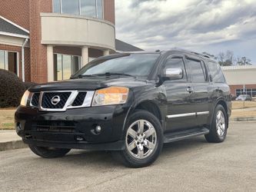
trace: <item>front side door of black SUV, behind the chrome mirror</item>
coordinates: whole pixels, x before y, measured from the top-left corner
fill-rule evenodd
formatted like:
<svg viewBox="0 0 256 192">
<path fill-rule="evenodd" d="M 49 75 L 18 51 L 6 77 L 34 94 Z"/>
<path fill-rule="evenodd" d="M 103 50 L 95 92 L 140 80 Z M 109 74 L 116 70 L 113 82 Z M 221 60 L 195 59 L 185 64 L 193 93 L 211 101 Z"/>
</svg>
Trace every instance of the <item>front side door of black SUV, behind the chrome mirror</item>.
<svg viewBox="0 0 256 192">
<path fill-rule="evenodd" d="M 167 131 L 180 131 L 194 126 L 195 115 L 191 114 L 194 109 L 191 106 L 191 83 L 188 82 L 188 76 L 185 67 L 185 58 L 183 55 L 170 55 L 161 71 L 166 68 L 181 68 L 183 78 L 178 80 L 166 80 L 163 85 L 165 87 L 168 101 Z"/>
</svg>

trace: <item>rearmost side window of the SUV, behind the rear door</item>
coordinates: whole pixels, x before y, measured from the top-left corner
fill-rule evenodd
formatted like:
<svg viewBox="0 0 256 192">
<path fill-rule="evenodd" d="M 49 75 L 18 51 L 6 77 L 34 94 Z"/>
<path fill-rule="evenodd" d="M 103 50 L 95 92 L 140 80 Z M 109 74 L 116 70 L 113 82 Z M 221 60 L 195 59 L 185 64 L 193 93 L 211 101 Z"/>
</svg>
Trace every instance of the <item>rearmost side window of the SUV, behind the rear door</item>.
<svg viewBox="0 0 256 192">
<path fill-rule="evenodd" d="M 224 75 L 221 71 L 221 66 L 215 62 L 208 62 L 209 74 L 211 74 L 212 81 L 214 83 L 224 83 Z"/>
</svg>

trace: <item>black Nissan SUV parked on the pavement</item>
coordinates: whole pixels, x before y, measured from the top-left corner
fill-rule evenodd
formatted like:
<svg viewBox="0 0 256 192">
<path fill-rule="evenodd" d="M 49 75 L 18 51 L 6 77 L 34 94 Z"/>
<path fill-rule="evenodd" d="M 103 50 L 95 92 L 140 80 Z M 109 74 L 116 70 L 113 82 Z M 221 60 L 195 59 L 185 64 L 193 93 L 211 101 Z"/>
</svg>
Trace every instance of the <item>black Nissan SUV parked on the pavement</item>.
<svg viewBox="0 0 256 192">
<path fill-rule="evenodd" d="M 231 93 L 218 63 L 171 50 L 97 58 L 67 81 L 25 91 L 19 136 L 41 157 L 112 151 L 129 167 L 154 162 L 163 144 L 204 135 L 224 141 Z"/>
</svg>

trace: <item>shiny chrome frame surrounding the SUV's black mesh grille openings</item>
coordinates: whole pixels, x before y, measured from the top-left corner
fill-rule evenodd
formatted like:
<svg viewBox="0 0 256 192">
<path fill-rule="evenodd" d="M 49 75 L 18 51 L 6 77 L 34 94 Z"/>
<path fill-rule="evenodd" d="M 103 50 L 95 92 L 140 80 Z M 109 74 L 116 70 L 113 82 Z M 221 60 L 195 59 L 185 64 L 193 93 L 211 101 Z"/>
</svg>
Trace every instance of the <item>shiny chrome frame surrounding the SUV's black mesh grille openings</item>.
<svg viewBox="0 0 256 192">
<path fill-rule="evenodd" d="M 43 94 L 45 94 L 45 93 L 60 93 L 60 92 L 71 92 L 71 94 L 70 94 L 70 96 L 69 96 L 68 100 L 66 101 L 63 108 L 52 109 L 52 108 L 43 108 L 42 107 L 42 96 L 43 96 Z M 75 101 L 75 98 L 78 96 L 79 92 L 86 92 L 85 100 L 84 100 L 83 104 L 80 105 L 80 106 L 72 106 L 72 104 Z M 33 97 L 33 94 L 35 94 L 35 93 L 40 93 L 39 101 L 38 101 L 38 107 L 32 105 L 32 97 Z M 67 111 L 67 109 L 70 109 L 70 108 L 88 108 L 88 107 L 91 107 L 91 101 L 92 101 L 92 98 L 95 94 L 95 91 L 66 90 L 66 91 L 40 91 L 40 92 L 35 92 L 35 93 L 32 93 L 32 95 L 30 96 L 31 97 L 31 100 L 29 101 L 30 107 L 38 108 L 39 111 Z"/>
</svg>

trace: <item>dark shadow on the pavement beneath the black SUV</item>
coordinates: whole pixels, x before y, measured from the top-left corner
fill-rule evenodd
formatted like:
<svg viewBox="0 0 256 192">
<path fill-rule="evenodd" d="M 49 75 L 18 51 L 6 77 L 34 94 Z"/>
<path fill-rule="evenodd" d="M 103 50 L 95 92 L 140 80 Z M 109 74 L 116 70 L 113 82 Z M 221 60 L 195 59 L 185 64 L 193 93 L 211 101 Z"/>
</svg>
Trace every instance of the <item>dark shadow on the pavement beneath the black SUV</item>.
<svg viewBox="0 0 256 192">
<path fill-rule="evenodd" d="M 176 141 L 169 144 L 164 144 L 160 157 L 155 164 L 161 162 L 165 157 L 178 157 L 182 156 L 185 151 L 195 151 L 201 149 L 208 142 L 205 141 L 204 137 L 194 137 L 191 139 Z M 183 153 L 184 152 L 184 153 Z M 67 166 L 80 166 L 80 167 L 105 167 L 105 169 L 115 169 L 124 167 L 118 161 L 111 157 L 109 151 L 85 151 L 85 150 L 71 150 L 65 157 L 44 159 L 39 157 L 39 161 L 46 162 L 51 161 L 56 164 L 67 164 Z M 37 159 L 38 161 L 38 159 Z"/>
</svg>

